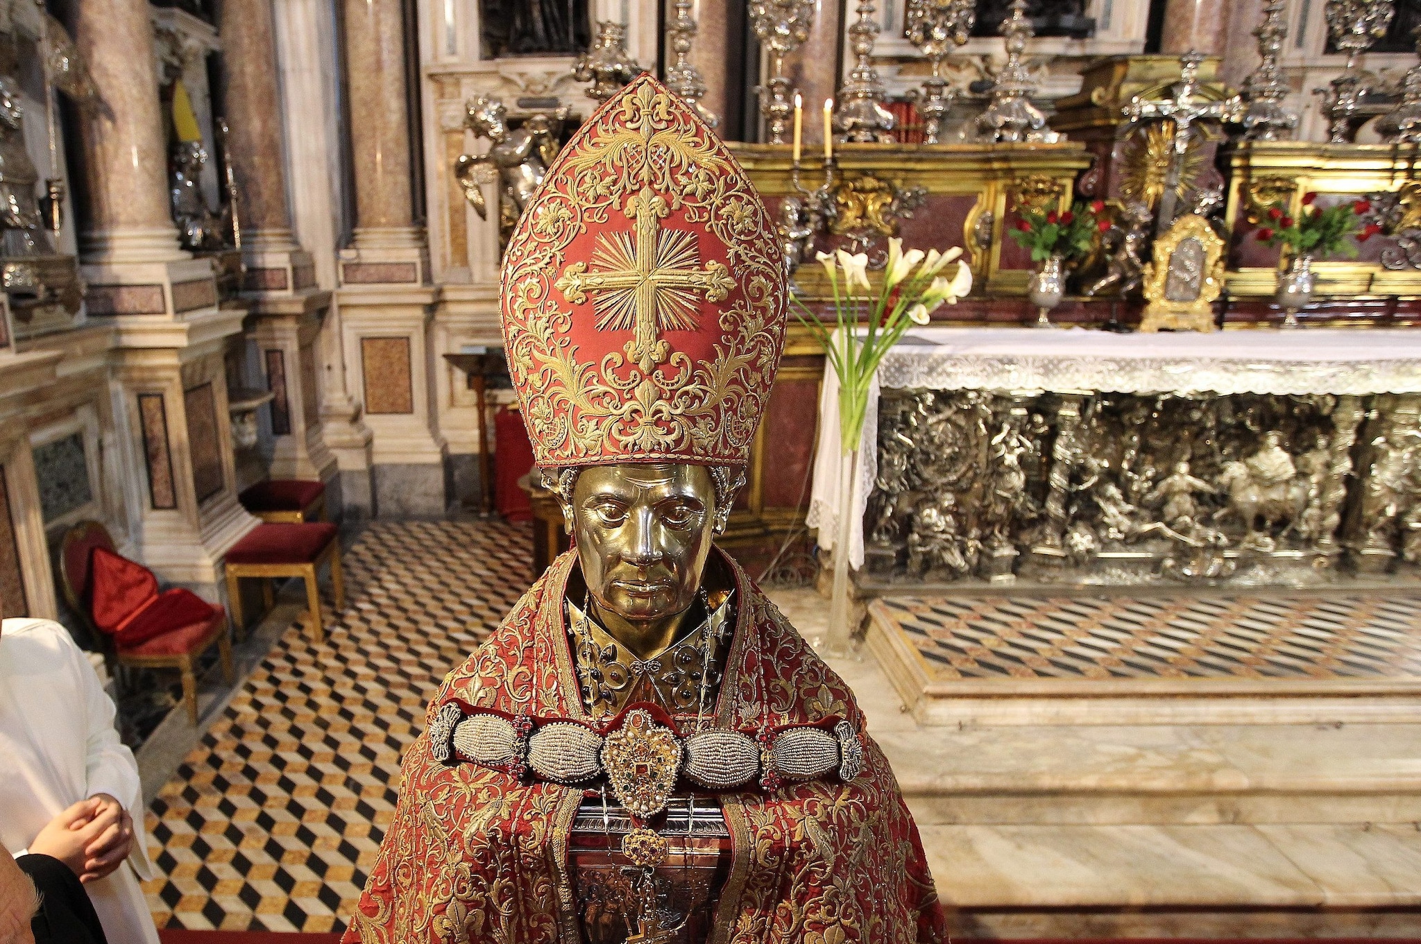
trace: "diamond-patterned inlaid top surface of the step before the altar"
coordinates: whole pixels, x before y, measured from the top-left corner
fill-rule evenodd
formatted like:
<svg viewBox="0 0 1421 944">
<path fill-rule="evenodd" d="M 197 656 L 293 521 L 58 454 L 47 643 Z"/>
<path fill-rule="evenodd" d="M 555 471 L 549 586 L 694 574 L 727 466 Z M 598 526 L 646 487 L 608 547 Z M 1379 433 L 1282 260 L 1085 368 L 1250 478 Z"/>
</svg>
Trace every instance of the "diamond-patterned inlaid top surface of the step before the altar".
<svg viewBox="0 0 1421 944">
<path fill-rule="evenodd" d="M 1421 599 L 887 598 L 938 680 L 1410 679 L 1421 676 Z"/>
</svg>

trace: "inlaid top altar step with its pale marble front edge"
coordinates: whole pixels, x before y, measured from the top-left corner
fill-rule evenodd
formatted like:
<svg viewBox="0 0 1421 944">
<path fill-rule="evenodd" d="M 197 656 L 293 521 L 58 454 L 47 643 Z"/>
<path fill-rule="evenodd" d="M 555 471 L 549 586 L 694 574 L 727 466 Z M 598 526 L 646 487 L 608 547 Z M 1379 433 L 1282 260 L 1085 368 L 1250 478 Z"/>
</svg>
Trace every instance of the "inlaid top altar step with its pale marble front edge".
<svg viewBox="0 0 1421 944">
<path fill-rule="evenodd" d="M 868 646 L 924 724 L 1421 723 L 1414 593 L 897 596 Z"/>
</svg>

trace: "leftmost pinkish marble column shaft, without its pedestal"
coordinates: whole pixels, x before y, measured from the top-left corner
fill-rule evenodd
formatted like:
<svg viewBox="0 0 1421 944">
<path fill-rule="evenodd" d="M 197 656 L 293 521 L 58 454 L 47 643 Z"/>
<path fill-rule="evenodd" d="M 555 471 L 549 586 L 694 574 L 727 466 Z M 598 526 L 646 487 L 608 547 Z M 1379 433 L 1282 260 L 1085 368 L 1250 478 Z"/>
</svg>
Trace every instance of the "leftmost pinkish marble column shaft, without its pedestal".
<svg viewBox="0 0 1421 944">
<path fill-rule="evenodd" d="M 98 87 L 80 122 L 85 263 L 186 258 L 168 209 L 168 158 L 148 0 L 72 3 L 71 28 Z M 146 314 L 146 312 L 145 312 Z"/>
</svg>

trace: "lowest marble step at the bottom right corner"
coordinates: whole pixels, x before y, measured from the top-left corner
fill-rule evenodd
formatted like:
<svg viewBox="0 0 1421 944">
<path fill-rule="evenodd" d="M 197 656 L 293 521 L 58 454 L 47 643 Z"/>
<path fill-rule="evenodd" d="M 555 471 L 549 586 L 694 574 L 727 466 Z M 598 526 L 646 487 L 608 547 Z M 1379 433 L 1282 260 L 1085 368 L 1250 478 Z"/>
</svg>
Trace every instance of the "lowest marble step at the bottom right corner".
<svg viewBox="0 0 1421 944">
<path fill-rule="evenodd" d="M 958 937 L 1421 937 L 1415 823 L 921 832 Z"/>
</svg>

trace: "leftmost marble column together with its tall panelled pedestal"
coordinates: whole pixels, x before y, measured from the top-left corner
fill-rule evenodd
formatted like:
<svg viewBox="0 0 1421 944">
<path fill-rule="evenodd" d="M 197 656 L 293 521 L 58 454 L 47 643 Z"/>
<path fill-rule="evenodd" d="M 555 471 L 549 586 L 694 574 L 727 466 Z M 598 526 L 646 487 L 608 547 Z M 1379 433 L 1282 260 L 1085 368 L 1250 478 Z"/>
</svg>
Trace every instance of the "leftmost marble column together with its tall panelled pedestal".
<svg viewBox="0 0 1421 944">
<path fill-rule="evenodd" d="M 222 358 L 246 311 L 219 307 L 210 260 L 178 246 L 149 4 L 71 11 L 99 97 L 78 122 L 80 253 L 88 317 L 112 329 L 131 548 L 161 579 L 217 599 L 223 555 L 257 524 L 237 504 Z"/>
</svg>

